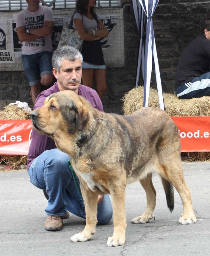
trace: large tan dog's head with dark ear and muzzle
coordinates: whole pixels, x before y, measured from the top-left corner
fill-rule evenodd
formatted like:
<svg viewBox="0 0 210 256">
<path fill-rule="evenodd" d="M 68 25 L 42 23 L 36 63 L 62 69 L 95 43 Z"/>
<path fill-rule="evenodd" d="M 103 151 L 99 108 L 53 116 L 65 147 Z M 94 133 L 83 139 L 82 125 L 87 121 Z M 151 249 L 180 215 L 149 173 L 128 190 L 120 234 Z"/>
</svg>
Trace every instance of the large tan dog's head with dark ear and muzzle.
<svg viewBox="0 0 210 256">
<path fill-rule="evenodd" d="M 48 96 L 41 108 L 31 113 L 35 131 L 54 139 L 65 131 L 73 134 L 88 123 L 90 108 L 87 100 L 70 90 Z"/>
</svg>

